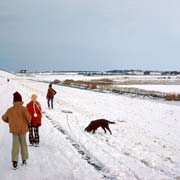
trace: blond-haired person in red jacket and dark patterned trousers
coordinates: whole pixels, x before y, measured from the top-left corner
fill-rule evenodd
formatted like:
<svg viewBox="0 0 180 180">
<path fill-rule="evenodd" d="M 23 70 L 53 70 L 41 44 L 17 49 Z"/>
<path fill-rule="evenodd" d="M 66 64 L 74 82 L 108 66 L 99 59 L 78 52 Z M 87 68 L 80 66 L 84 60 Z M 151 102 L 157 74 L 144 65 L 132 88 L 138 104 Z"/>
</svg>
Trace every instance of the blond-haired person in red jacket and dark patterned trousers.
<svg viewBox="0 0 180 180">
<path fill-rule="evenodd" d="M 31 101 L 26 107 L 32 117 L 31 124 L 29 124 L 29 142 L 37 147 L 39 145 L 39 127 L 41 126 L 42 111 L 36 94 L 32 94 Z"/>
</svg>

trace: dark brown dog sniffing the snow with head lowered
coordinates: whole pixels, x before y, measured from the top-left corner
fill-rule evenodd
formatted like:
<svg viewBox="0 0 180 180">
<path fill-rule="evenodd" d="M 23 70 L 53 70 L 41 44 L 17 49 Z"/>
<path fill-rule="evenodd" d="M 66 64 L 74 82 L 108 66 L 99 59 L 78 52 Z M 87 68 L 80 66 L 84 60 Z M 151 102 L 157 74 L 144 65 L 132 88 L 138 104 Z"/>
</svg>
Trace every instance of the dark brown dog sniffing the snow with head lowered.
<svg viewBox="0 0 180 180">
<path fill-rule="evenodd" d="M 114 124 L 115 122 L 111 122 L 106 119 L 97 119 L 91 121 L 90 124 L 84 130 L 87 132 L 93 131 L 94 134 L 97 128 L 102 127 L 105 133 L 107 129 L 110 132 L 110 134 L 112 134 L 111 130 L 109 129 L 109 123 Z"/>
</svg>

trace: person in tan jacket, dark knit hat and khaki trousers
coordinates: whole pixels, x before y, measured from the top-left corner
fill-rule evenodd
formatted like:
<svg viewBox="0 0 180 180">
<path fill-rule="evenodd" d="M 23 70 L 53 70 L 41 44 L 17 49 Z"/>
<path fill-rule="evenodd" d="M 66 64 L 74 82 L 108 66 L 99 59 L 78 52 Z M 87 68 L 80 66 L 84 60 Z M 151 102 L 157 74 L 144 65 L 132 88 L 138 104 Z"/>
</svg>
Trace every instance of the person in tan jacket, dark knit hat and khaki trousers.
<svg viewBox="0 0 180 180">
<path fill-rule="evenodd" d="M 2 115 L 2 120 L 9 123 L 10 133 L 12 133 L 12 165 L 13 169 L 17 169 L 19 149 L 21 149 L 23 165 L 26 164 L 28 159 L 26 133 L 28 131 L 28 124 L 31 122 L 31 116 L 27 108 L 23 106 L 22 96 L 19 92 L 15 92 L 13 96 L 13 106 Z"/>
</svg>

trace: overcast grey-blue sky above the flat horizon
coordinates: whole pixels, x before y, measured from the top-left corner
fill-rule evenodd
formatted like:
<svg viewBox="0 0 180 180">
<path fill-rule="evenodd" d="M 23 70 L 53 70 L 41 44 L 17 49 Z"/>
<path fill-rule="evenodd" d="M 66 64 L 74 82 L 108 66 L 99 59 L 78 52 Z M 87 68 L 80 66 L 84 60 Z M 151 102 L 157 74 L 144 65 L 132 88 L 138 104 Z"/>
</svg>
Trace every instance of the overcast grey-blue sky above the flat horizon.
<svg viewBox="0 0 180 180">
<path fill-rule="evenodd" d="M 0 0 L 0 69 L 180 70 L 180 1 Z"/>
</svg>

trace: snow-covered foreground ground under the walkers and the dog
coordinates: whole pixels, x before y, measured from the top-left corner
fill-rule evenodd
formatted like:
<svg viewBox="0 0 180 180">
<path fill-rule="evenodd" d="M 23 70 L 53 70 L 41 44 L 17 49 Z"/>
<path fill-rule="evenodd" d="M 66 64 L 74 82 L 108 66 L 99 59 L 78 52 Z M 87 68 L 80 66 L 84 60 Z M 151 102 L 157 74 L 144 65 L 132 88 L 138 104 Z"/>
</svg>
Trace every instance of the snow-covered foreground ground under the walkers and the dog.
<svg viewBox="0 0 180 180">
<path fill-rule="evenodd" d="M 55 108 L 49 110 L 47 83 L 28 78 L 7 82 L 6 78 L 7 74 L 0 78 L 0 114 L 12 105 L 15 91 L 22 94 L 24 105 L 36 93 L 43 109 L 43 124 L 40 147 L 28 147 L 28 165 L 22 167 L 19 159 L 19 169 L 11 170 L 12 137 L 8 125 L 0 121 L 0 179 L 180 179 L 178 105 L 53 85 L 57 91 Z M 50 80 L 50 75 L 43 78 Z M 52 79 L 58 78 L 54 75 Z M 98 118 L 116 122 L 110 124 L 112 135 L 102 129 L 95 134 L 84 132 L 89 122 Z"/>
</svg>

